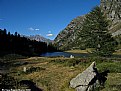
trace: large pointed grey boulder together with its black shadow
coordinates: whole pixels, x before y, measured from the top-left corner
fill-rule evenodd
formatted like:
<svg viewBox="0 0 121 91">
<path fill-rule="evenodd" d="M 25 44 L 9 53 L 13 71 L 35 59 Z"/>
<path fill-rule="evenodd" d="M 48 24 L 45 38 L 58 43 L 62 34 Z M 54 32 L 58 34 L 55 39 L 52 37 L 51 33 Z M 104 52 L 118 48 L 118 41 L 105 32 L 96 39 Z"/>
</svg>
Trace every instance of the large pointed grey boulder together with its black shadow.
<svg viewBox="0 0 121 91">
<path fill-rule="evenodd" d="M 104 86 L 108 73 L 109 70 L 99 73 L 95 62 L 93 62 L 86 70 L 70 81 L 70 87 L 75 88 L 76 91 L 94 91 L 97 88 L 100 89 L 100 86 Z"/>
</svg>

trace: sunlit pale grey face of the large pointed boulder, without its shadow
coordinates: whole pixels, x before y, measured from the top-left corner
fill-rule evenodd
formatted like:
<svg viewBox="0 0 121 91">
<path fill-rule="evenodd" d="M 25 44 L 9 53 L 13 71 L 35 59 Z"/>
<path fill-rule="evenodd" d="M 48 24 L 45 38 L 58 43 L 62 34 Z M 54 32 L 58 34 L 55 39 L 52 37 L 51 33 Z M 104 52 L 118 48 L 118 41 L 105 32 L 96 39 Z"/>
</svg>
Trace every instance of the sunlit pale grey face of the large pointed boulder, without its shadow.
<svg viewBox="0 0 121 91">
<path fill-rule="evenodd" d="M 89 85 L 95 76 L 95 62 L 93 62 L 85 71 L 70 81 L 70 87 L 75 88 L 76 91 L 89 91 L 95 85 Z"/>
</svg>

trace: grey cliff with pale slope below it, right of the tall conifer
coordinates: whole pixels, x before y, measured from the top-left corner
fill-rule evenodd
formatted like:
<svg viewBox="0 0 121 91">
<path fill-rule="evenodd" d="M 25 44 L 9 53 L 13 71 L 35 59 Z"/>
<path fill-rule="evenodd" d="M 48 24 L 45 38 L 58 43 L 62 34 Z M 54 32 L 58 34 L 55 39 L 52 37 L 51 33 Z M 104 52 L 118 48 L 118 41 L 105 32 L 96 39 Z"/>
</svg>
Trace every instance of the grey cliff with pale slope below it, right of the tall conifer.
<svg viewBox="0 0 121 91">
<path fill-rule="evenodd" d="M 101 0 L 100 7 L 110 20 L 109 30 L 112 35 L 121 34 L 121 0 Z"/>
</svg>

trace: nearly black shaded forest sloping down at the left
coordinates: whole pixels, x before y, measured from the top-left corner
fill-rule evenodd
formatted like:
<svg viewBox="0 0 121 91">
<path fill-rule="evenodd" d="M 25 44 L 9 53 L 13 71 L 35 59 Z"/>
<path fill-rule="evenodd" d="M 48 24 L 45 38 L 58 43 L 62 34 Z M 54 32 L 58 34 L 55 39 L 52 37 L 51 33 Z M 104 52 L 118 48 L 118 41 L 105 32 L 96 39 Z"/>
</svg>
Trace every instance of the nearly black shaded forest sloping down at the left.
<svg viewBox="0 0 121 91">
<path fill-rule="evenodd" d="M 57 51 L 52 44 L 47 45 L 46 42 L 21 37 L 17 32 L 11 34 L 6 29 L 0 29 L 0 56 L 6 54 L 39 56 L 41 53 L 52 51 Z"/>
</svg>

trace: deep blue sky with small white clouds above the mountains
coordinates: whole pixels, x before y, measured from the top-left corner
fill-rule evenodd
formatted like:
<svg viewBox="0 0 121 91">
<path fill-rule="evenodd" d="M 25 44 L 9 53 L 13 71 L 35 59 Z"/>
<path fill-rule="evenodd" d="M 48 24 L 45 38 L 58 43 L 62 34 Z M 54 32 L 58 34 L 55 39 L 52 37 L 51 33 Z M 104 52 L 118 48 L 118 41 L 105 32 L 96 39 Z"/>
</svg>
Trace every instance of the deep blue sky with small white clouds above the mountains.
<svg viewBox="0 0 121 91">
<path fill-rule="evenodd" d="M 99 4 L 100 0 L 0 0 L 0 28 L 53 40 L 72 19 Z"/>
</svg>

